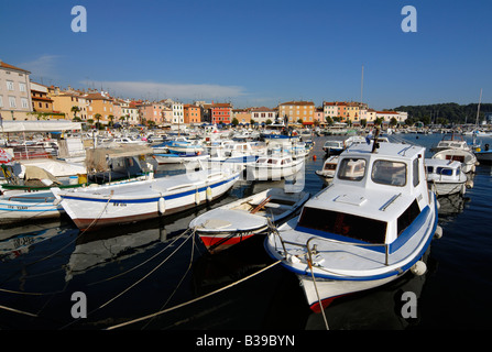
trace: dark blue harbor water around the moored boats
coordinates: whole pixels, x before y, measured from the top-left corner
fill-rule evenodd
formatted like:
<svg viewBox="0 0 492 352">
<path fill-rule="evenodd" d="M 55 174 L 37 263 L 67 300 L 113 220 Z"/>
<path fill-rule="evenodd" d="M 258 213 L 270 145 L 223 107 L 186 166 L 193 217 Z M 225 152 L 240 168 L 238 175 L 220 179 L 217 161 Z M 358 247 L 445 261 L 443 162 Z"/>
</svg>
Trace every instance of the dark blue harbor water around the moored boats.
<svg viewBox="0 0 492 352">
<path fill-rule="evenodd" d="M 428 151 L 442 135 L 394 138 Z M 311 195 L 324 187 L 315 170 L 327 139 L 341 136 L 315 138 L 295 179 Z M 162 165 L 156 177 L 170 172 Z M 297 278 L 271 265 L 264 235 L 210 255 L 187 231 L 211 208 L 293 182 L 241 180 L 219 200 L 170 218 L 85 233 L 69 218 L 0 229 L 0 329 L 491 329 L 492 166 L 479 165 L 472 177 L 464 196 L 439 198 L 444 234 L 426 253 L 426 274 L 336 299 L 325 309 L 328 327 Z M 406 292 L 417 298 L 412 317 L 402 312 Z"/>
</svg>

